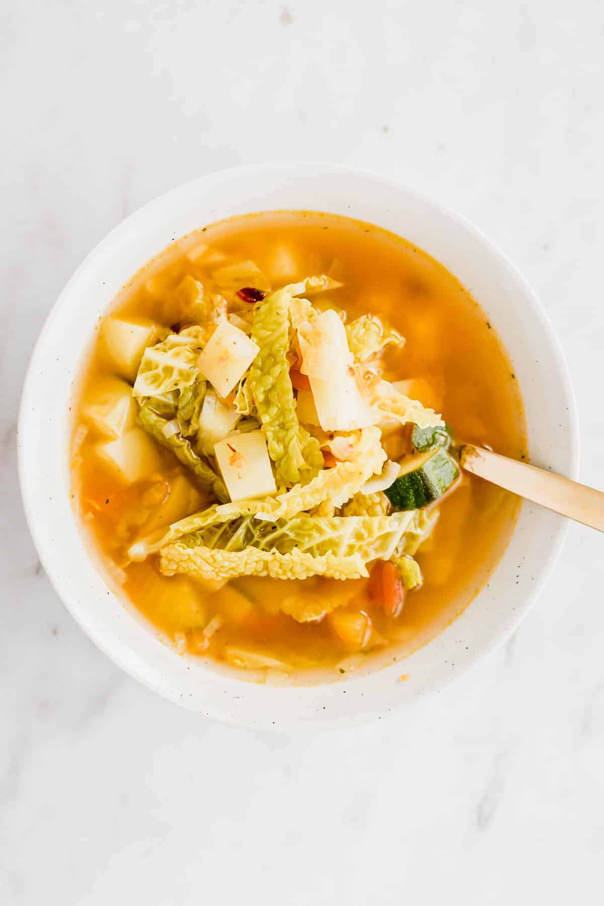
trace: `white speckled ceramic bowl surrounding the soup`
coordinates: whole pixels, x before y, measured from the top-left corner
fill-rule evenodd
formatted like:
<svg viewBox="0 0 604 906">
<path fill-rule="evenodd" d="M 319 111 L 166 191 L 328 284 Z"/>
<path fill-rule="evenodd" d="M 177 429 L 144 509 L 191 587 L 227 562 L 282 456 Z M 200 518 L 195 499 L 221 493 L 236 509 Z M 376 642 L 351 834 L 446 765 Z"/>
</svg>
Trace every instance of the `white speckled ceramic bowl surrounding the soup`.
<svg viewBox="0 0 604 906">
<path fill-rule="evenodd" d="M 108 591 L 70 505 L 68 406 L 82 350 L 120 287 L 175 238 L 224 217 L 288 208 L 329 211 L 383 226 L 446 265 L 488 313 L 512 358 L 532 461 L 570 477 L 576 477 L 578 467 L 570 380 L 541 304 L 474 226 L 427 198 L 392 180 L 337 165 L 270 164 L 196 179 L 117 226 L 65 286 L 35 346 L 18 435 L 25 514 L 57 593 L 120 667 L 187 708 L 268 728 L 363 721 L 442 687 L 513 631 L 550 573 L 564 534 L 561 517 L 524 504 L 489 585 L 446 631 L 405 660 L 405 683 L 398 682 L 400 663 L 314 687 L 244 682 L 178 657 Z"/>
</svg>

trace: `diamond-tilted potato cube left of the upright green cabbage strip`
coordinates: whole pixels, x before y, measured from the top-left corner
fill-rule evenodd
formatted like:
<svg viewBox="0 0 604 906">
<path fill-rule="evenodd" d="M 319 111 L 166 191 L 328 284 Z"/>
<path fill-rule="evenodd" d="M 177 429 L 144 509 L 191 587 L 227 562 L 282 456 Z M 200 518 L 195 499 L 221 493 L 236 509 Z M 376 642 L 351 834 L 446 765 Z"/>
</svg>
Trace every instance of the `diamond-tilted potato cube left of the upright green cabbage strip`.
<svg viewBox="0 0 604 906">
<path fill-rule="evenodd" d="M 199 372 L 226 397 L 250 367 L 260 347 L 235 324 L 221 321 L 197 360 Z"/>
</svg>

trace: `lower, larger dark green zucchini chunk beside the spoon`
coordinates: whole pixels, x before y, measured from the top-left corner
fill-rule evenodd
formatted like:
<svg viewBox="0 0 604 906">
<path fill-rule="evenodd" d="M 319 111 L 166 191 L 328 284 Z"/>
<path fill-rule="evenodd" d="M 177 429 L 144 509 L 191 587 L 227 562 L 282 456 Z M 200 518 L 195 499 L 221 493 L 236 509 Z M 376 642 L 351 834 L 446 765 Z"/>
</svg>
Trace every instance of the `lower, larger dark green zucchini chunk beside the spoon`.
<svg viewBox="0 0 604 906">
<path fill-rule="evenodd" d="M 421 509 L 443 496 L 459 477 L 455 459 L 436 447 L 404 460 L 398 477 L 384 493 L 395 510 Z"/>
</svg>

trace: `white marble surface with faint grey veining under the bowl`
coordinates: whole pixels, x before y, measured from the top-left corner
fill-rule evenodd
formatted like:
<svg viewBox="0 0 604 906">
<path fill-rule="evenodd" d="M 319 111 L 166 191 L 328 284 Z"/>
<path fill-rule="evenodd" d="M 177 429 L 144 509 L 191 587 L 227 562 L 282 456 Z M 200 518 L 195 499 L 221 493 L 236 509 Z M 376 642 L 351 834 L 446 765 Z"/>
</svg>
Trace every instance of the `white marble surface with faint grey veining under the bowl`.
<svg viewBox="0 0 604 906">
<path fill-rule="evenodd" d="M 601 902 L 601 536 L 571 526 L 513 639 L 421 708 L 251 732 L 155 698 L 83 636 L 24 524 L 14 432 L 43 318 L 121 217 L 212 169 L 334 159 L 456 207 L 521 267 L 601 487 L 603 57 L 598 0 L 5 0 L 3 906 Z"/>
</svg>

